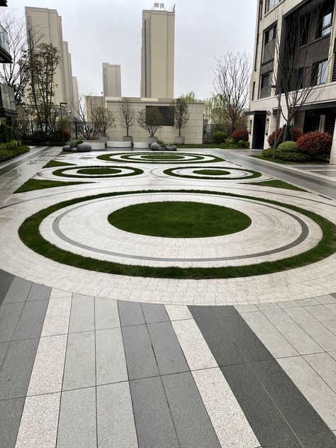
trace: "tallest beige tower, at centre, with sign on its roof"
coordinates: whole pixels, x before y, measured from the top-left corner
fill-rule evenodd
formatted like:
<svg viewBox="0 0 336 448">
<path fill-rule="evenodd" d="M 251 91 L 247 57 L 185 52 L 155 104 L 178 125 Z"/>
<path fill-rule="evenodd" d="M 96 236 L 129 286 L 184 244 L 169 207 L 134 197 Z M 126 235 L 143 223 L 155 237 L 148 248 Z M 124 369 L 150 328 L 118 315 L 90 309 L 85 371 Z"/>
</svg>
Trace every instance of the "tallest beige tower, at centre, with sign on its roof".
<svg viewBox="0 0 336 448">
<path fill-rule="evenodd" d="M 164 4 L 142 11 L 142 98 L 174 98 L 175 11 Z"/>
</svg>

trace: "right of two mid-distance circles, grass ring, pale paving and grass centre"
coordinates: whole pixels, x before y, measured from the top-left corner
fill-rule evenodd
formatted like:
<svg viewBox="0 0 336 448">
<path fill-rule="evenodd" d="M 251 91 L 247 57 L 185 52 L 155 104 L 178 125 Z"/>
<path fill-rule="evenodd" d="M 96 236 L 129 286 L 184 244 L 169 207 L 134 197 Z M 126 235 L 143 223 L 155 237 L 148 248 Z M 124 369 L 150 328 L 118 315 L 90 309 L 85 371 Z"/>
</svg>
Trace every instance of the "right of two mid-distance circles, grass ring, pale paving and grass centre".
<svg viewBox="0 0 336 448">
<path fill-rule="evenodd" d="M 245 168 L 233 167 L 176 167 L 164 169 L 168 176 L 184 177 L 186 179 L 208 179 L 208 180 L 245 180 L 261 177 L 257 171 Z M 210 174 L 213 171 L 213 174 Z M 206 173 L 206 174 L 205 174 Z"/>
</svg>

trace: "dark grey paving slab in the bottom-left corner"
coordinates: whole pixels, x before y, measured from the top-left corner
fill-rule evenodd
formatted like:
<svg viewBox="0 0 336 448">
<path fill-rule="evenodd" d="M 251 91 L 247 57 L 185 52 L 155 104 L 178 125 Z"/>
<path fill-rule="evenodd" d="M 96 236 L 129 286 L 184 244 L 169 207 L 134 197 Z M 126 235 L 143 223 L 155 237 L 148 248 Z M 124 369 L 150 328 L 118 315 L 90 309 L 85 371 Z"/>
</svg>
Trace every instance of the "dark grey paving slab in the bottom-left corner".
<svg viewBox="0 0 336 448">
<path fill-rule="evenodd" d="M 24 398 L 0 401 L 0 448 L 15 448 Z"/>
</svg>

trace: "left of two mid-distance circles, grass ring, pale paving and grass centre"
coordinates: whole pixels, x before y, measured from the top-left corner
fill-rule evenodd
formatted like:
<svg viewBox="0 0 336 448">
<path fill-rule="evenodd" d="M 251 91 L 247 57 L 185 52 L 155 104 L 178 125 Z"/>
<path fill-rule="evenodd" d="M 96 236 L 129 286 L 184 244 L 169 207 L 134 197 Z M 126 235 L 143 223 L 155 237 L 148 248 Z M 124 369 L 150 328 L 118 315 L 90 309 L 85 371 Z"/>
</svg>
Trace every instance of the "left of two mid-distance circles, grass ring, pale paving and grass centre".
<svg viewBox="0 0 336 448">
<path fill-rule="evenodd" d="M 137 176 L 142 174 L 143 171 L 140 168 L 125 167 L 125 166 L 112 166 L 112 167 L 67 167 L 56 169 L 52 172 L 54 176 L 59 177 L 72 177 L 76 179 L 92 178 L 92 179 L 105 179 L 110 177 L 127 177 Z"/>
</svg>

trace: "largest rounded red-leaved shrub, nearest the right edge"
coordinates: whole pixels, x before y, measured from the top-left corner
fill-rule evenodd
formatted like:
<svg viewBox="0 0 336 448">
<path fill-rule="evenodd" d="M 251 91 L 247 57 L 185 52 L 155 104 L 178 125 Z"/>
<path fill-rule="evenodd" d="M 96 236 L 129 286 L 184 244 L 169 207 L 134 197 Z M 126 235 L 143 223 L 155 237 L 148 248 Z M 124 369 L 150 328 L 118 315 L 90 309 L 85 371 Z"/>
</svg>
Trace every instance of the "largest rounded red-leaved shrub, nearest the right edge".
<svg viewBox="0 0 336 448">
<path fill-rule="evenodd" d="M 311 159 L 327 159 L 330 157 L 332 137 L 319 131 L 306 133 L 298 139 L 298 150 Z"/>
</svg>

